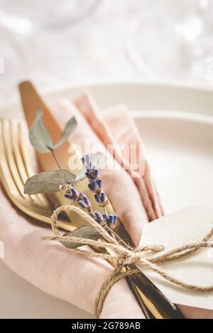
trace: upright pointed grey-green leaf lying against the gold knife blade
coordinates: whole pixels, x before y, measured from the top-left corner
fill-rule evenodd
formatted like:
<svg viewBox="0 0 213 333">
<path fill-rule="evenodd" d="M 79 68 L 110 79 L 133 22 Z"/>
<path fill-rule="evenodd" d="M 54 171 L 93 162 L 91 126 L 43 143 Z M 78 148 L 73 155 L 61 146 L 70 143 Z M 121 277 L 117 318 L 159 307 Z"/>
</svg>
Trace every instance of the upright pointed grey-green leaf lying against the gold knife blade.
<svg viewBox="0 0 213 333">
<path fill-rule="evenodd" d="M 46 153 L 53 148 L 53 141 L 41 117 L 42 112 L 37 109 L 34 123 L 29 130 L 29 137 L 31 144 L 38 152 Z"/>
</svg>

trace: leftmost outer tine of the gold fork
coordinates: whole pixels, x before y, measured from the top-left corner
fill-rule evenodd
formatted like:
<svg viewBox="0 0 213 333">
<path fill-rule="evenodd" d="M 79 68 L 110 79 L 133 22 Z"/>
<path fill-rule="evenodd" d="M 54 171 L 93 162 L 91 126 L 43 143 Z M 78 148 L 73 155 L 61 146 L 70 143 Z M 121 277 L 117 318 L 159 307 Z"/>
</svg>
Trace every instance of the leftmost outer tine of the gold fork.
<svg viewBox="0 0 213 333">
<path fill-rule="evenodd" d="M 11 174 L 11 170 L 9 168 L 9 164 L 7 162 L 7 156 L 6 156 L 6 148 L 4 145 L 3 140 L 3 122 L 4 120 L 1 119 L 1 135 L 0 135 L 0 167 L 1 167 L 1 181 L 4 184 L 4 187 L 6 188 L 7 192 L 11 196 L 20 196 L 20 198 L 23 196 L 21 195 L 20 191 L 18 190 L 16 183 L 14 182 L 13 176 Z"/>
</svg>

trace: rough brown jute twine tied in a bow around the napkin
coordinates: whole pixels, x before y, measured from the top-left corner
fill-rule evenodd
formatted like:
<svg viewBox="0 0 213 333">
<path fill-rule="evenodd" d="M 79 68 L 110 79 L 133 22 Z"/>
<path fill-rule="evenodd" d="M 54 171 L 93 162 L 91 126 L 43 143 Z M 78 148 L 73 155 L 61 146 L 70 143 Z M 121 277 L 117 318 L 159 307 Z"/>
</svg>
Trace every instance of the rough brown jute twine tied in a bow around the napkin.
<svg viewBox="0 0 213 333">
<path fill-rule="evenodd" d="M 95 241 L 92 239 L 80 238 L 80 237 L 66 237 L 60 235 L 57 226 L 58 215 L 62 212 L 72 211 L 84 218 L 85 221 L 92 225 L 94 229 L 102 235 L 103 241 Z M 135 264 L 140 264 L 140 266 L 146 267 L 151 269 L 151 271 L 155 271 L 160 276 L 162 276 L 166 281 L 173 283 L 177 286 L 188 290 L 198 290 L 198 291 L 209 291 L 213 290 L 213 286 L 194 286 L 192 284 L 184 283 L 177 278 L 173 278 L 168 273 L 165 273 L 157 263 L 162 261 L 170 261 L 179 259 L 182 256 L 186 256 L 192 254 L 193 252 L 206 248 L 206 247 L 213 247 L 212 242 L 208 242 L 209 239 L 213 236 L 213 228 L 212 230 L 200 241 L 194 242 L 192 244 L 185 244 L 181 247 L 173 249 L 172 251 L 159 254 L 164 250 L 162 245 L 151 245 L 146 247 L 137 247 L 136 249 L 126 248 L 121 245 L 119 242 L 114 239 L 109 233 L 104 230 L 104 228 L 99 225 L 92 217 L 90 217 L 87 213 L 85 213 L 82 209 L 77 208 L 73 205 L 62 205 L 58 207 L 51 216 L 52 219 L 52 229 L 55 233 L 55 236 L 45 236 L 43 235 L 41 239 L 45 240 L 58 240 L 58 242 L 75 242 L 81 244 L 91 245 L 92 247 L 100 247 L 104 249 L 112 249 L 113 253 L 98 253 L 98 252 L 90 252 L 85 251 L 83 249 L 70 249 L 70 251 L 75 252 L 77 254 L 83 254 L 84 256 L 88 257 L 96 257 L 106 259 L 110 261 L 114 265 L 114 270 L 112 271 L 109 278 L 104 281 L 99 294 L 97 295 L 96 304 L 95 304 L 95 315 L 99 317 L 102 312 L 102 307 L 104 304 L 104 300 L 109 293 L 111 287 L 117 281 L 121 280 L 125 276 L 131 276 L 135 273 L 138 273 L 140 270 L 135 266 Z M 157 255 L 156 255 L 157 253 Z M 133 264 L 133 269 L 126 269 L 127 266 Z M 131 266 L 132 267 L 132 266 Z"/>
</svg>

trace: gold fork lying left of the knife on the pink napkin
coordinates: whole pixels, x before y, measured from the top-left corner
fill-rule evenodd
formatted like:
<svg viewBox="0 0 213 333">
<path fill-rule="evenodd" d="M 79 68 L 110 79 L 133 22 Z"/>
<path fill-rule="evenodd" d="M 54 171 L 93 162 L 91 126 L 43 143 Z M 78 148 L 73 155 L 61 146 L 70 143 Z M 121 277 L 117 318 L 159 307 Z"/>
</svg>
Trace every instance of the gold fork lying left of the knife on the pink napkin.
<svg viewBox="0 0 213 333">
<path fill-rule="evenodd" d="M 35 172 L 26 145 L 26 124 L 23 120 L 5 120 L 1 118 L 0 135 L 0 178 L 12 203 L 23 213 L 51 224 L 53 207 L 43 194 L 28 196 L 23 193 L 26 180 Z M 63 230 L 72 231 L 70 222 L 58 221 Z"/>
</svg>

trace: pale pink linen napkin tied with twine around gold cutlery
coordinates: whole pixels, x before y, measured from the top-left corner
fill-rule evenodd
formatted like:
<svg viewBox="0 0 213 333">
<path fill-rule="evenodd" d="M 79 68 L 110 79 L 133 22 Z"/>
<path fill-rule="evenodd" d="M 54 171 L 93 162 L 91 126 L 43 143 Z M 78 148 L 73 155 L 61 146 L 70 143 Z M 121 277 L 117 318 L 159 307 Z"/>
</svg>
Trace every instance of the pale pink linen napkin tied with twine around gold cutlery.
<svg viewBox="0 0 213 333">
<path fill-rule="evenodd" d="M 103 149 L 111 143 L 141 144 L 138 131 L 124 106 L 101 112 L 91 96 L 85 94 L 73 103 L 67 100 L 53 103 L 51 109 L 62 127 L 71 115 L 75 115 L 78 126 L 72 139 L 79 145 L 85 137 L 92 144 L 102 144 Z M 33 149 L 29 149 L 34 154 Z M 129 162 L 128 157 L 122 157 L 124 167 Z M 102 170 L 104 190 L 136 245 L 143 224 L 163 215 L 147 162 L 145 166 L 145 175 L 136 178 L 132 177 L 133 172 L 138 172 L 134 166 L 127 171 L 124 168 Z M 17 210 L 2 188 L 0 196 L 1 207 L 4 208 L 0 213 L 0 235 L 5 246 L 5 264 L 45 293 L 94 313 L 97 294 L 112 270 L 110 264 L 103 259 L 84 258 L 72 253 L 58 242 L 41 242 L 40 235 L 52 235 L 52 231 Z M 212 315 L 211 311 L 196 312 L 189 307 L 181 307 L 181 310 L 187 317 Z M 143 318 L 125 280 L 111 288 L 104 302 L 102 317 Z"/>
</svg>

